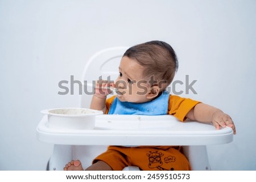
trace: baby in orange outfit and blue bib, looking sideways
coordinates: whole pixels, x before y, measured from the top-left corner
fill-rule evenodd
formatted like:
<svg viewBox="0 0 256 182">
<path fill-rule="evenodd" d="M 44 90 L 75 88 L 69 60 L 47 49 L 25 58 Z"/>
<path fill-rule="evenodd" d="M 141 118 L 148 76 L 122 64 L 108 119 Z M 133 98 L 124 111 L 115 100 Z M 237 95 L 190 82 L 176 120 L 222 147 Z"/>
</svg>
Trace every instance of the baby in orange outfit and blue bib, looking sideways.
<svg viewBox="0 0 256 182">
<path fill-rule="evenodd" d="M 169 44 L 150 41 L 135 45 L 123 54 L 115 83 L 98 81 L 90 108 L 109 115 L 173 115 L 180 121 L 189 118 L 212 123 L 216 129 L 229 126 L 236 134 L 232 118 L 220 109 L 166 91 L 177 67 L 176 54 Z M 111 91 L 106 87 L 110 86 L 116 88 L 117 95 L 107 99 Z M 138 166 L 140 170 L 191 170 L 179 146 L 109 146 L 85 170 L 122 170 L 126 166 Z M 80 160 L 72 160 L 64 170 L 84 168 Z"/>
</svg>

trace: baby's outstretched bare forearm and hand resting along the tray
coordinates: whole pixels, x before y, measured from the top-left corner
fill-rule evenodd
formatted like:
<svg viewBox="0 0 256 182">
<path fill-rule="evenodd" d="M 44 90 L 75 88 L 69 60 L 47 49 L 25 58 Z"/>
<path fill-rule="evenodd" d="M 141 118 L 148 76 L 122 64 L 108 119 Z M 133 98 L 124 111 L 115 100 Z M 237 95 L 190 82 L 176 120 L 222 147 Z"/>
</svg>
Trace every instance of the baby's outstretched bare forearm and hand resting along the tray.
<svg viewBox="0 0 256 182">
<path fill-rule="evenodd" d="M 187 113 L 186 117 L 199 122 L 212 122 L 216 129 L 229 126 L 233 129 L 234 134 L 236 134 L 236 127 L 232 118 L 220 109 L 210 105 L 203 103 L 196 104 L 196 106 Z"/>
</svg>

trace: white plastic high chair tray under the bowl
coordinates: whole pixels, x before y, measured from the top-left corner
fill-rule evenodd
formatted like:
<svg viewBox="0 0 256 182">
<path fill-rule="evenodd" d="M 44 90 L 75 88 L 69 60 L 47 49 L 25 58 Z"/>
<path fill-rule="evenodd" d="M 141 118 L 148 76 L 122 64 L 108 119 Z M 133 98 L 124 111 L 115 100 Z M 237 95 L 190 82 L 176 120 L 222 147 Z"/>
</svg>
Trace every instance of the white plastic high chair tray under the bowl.
<svg viewBox="0 0 256 182">
<path fill-rule="evenodd" d="M 99 115 L 93 130 L 51 128 L 40 121 L 39 141 L 60 145 L 219 145 L 233 141 L 229 127 L 180 122 L 174 116 Z"/>
</svg>

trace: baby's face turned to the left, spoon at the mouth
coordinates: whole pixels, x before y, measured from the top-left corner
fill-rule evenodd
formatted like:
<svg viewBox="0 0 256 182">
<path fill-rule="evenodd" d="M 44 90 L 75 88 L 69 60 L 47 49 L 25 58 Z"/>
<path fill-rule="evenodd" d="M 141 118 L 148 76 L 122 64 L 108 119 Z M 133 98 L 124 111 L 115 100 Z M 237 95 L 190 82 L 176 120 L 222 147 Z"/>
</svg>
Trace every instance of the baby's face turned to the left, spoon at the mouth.
<svg viewBox="0 0 256 182">
<path fill-rule="evenodd" d="M 143 66 L 135 60 L 126 56 L 122 57 L 119 77 L 115 81 L 115 87 L 118 88 L 117 98 L 120 101 L 144 103 L 151 100 L 147 98 L 150 84 L 142 77 L 143 70 Z"/>
</svg>

